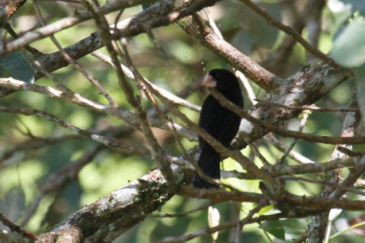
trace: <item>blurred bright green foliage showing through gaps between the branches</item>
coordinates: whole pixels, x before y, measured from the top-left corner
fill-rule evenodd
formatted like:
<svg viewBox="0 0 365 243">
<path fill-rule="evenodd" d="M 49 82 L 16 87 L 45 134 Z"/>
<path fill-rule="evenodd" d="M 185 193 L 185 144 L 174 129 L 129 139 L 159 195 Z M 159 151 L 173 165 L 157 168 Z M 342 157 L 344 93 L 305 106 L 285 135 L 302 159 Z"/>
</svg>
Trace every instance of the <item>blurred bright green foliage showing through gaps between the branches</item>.
<svg viewBox="0 0 365 243">
<path fill-rule="evenodd" d="M 284 17 L 288 17 L 287 10 L 285 9 L 289 7 L 292 8 L 293 12 L 299 11 L 305 1 L 297 0 L 293 1 L 293 3 L 291 1 L 286 3 L 286 1 L 262 0 L 255 2 L 260 4 L 260 7 L 264 8 L 275 19 L 281 20 Z M 103 3 L 100 2 L 100 4 Z M 77 4 L 58 3 L 55 1 L 42 1 L 39 4 L 41 5 L 43 15 L 50 17 L 49 23 L 68 16 L 74 8 L 79 11 L 82 10 L 81 5 Z M 323 52 L 328 52 L 333 48 L 331 53 L 336 60 L 343 61 L 342 64 L 361 66 L 365 62 L 364 42 L 362 42 L 365 36 L 362 16 L 364 9 L 365 3 L 360 1 L 328 0 L 322 14 L 322 23 L 324 24 L 319 35 L 319 49 Z M 141 6 L 128 8 L 120 19 L 132 16 L 140 11 L 142 11 Z M 220 1 L 214 8 L 210 8 L 210 13 L 222 31 L 224 38 L 257 62 L 268 59 L 276 48 L 280 46 L 281 40 L 283 40 L 283 33 L 267 25 L 260 16 L 238 1 Z M 115 15 L 116 13 L 112 13 L 107 16 L 110 23 L 114 21 Z M 356 17 L 351 19 L 354 15 Z M 201 13 L 201 16 L 204 17 L 204 13 Z M 37 24 L 32 4 L 30 2 L 24 4 L 12 17 L 10 23 L 18 33 L 24 33 L 24 31 L 31 28 L 30 23 Z M 63 47 L 66 47 L 87 37 L 94 31 L 96 31 L 96 28 L 93 21 L 87 21 L 73 28 L 58 32 L 55 37 Z M 348 32 L 360 39 L 351 38 L 352 42 L 349 45 L 347 35 L 350 34 L 347 34 Z M 358 36 L 360 32 L 361 36 Z M 174 94 L 178 94 L 213 68 L 229 68 L 226 63 L 223 63 L 212 52 L 200 46 L 195 40 L 175 26 L 161 27 L 153 30 L 153 33 L 162 48 L 168 52 L 170 56 L 168 60 L 165 60 L 158 53 L 145 34 L 129 38 L 128 50 L 135 66 L 138 67 L 138 70 L 144 77 L 155 85 Z M 306 36 L 306 29 L 304 29 L 303 33 Z M 32 43 L 32 46 L 44 53 L 57 51 L 57 48 L 51 43 L 49 38 Z M 99 51 L 106 53 L 104 48 Z M 357 59 L 354 58 L 355 55 L 358 57 Z M 288 75 L 296 72 L 299 67 L 306 65 L 306 53 L 303 47 L 297 44 L 289 60 Z M 120 106 L 132 111 L 124 98 L 122 90 L 118 86 L 115 72 L 110 66 L 91 55 L 78 60 L 78 62 L 100 82 Z M 61 83 L 68 86 L 74 92 L 89 99 L 107 103 L 106 99 L 98 93 L 91 83 L 73 67 L 68 66 L 57 70 L 54 72 L 54 75 L 57 76 Z M 133 81 L 129 81 L 133 84 Z M 358 84 L 361 84 L 360 88 L 362 87 L 365 90 L 365 81 L 362 81 L 362 79 L 360 81 L 358 81 Z M 250 83 L 257 97 L 262 98 L 264 91 L 252 82 Z M 54 84 L 48 78 L 39 79 L 37 84 L 54 87 Z M 347 81 L 332 90 L 316 105 L 330 108 L 347 107 L 355 86 L 356 84 L 353 81 Z M 134 91 L 136 94 L 138 93 L 137 88 Z M 246 93 L 245 97 L 245 109 L 248 109 L 251 107 L 251 103 Z M 203 99 L 204 93 L 196 90 L 191 91 L 191 94 L 187 96 L 189 102 L 198 105 L 201 105 Z M 151 109 L 151 105 L 147 101 L 142 100 L 142 103 L 147 110 Z M 81 129 L 102 130 L 108 126 L 125 125 L 124 122 L 110 115 L 99 114 L 87 108 L 71 105 L 64 101 L 28 91 L 18 91 L 1 98 L 0 105 L 43 110 Z M 197 121 L 199 117 L 197 112 L 184 107 L 181 107 L 180 110 L 193 121 Z M 171 114 L 168 113 L 168 115 L 170 116 Z M 344 116 L 345 114 L 343 113 L 314 112 L 310 115 L 304 132 L 338 136 Z M 174 121 L 180 122 L 176 118 L 174 118 Z M 296 119 L 293 119 L 291 122 L 294 122 L 294 125 L 297 126 Z M 168 150 L 169 154 L 182 154 L 180 148 L 174 143 L 172 133 L 161 129 L 156 129 L 154 132 L 160 144 Z M 67 134 L 73 133 L 43 118 L 1 113 L 0 156 L 3 156 L 21 142 L 31 142 L 33 136 L 55 138 Z M 145 146 L 141 134 L 137 132 L 129 134 L 123 139 L 131 141 L 138 146 Z M 288 138 L 279 139 L 287 145 L 291 141 Z M 185 149 L 192 148 L 197 144 L 196 142 L 189 142 L 185 138 L 182 138 L 181 141 Z M 3 212 L 4 215 L 14 222 L 20 223 L 24 217 L 24 212 L 27 211 L 29 205 L 37 197 L 38 188 L 46 183 L 49 176 L 64 168 L 70 162 L 82 157 L 85 152 L 96 145 L 94 141 L 78 137 L 39 148 L 18 150 L 10 158 L 0 159 L 0 212 Z M 261 141 L 258 142 L 258 148 L 270 163 L 276 162 L 282 155 L 273 146 Z M 364 149 L 364 146 L 358 145 L 357 148 Z M 333 146 L 331 145 L 312 144 L 303 141 L 298 141 L 294 148 L 297 152 L 316 162 L 328 161 L 332 149 Z M 249 158 L 253 157 L 249 148 L 242 150 L 242 153 Z M 5 162 L 7 164 L 2 164 Z M 258 158 L 255 158 L 254 162 L 258 166 L 262 166 Z M 289 158 L 285 162 L 295 164 Z M 225 160 L 221 166 L 225 170 L 235 169 L 243 171 L 241 166 L 232 159 Z M 147 156 L 120 154 L 112 149 L 103 149 L 91 163 L 84 166 L 76 181 L 69 183 L 61 192 L 51 193 L 42 198 L 37 211 L 26 224 L 26 227 L 33 232 L 43 232 L 47 230 L 47 227 L 57 224 L 83 205 L 92 203 L 99 199 L 99 197 L 123 187 L 130 180 L 138 179 L 154 167 L 153 160 Z M 346 175 L 346 172 L 344 173 Z M 309 179 L 319 179 L 315 175 L 303 176 Z M 260 192 L 258 181 L 244 181 L 233 178 L 222 179 L 222 181 L 242 191 Z M 286 189 L 298 195 L 308 196 L 318 195 L 320 190 L 316 184 L 297 181 L 287 182 Z M 358 198 L 356 195 L 353 197 L 354 199 Z M 199 207 L 204 203 L 204 200 L 174 196 L 161 208 L 161 212 L 157 213 L 184 212 Z M 225 202 L 215 205 L 215 207 L 220 211 L 221 222 L 224 222 L 231 220 L 234 217 L 234 212 L 237 210 L 241 211 L 239 212 L 239 217 L 245 217 L 247 212 L 252 209 L 253 204 L 242 203 L 237 205 L 236 203 Z M 356 215 L 354 212 L 342 212 L 338 219 L 349 219 L 354 215 Z M 276 236 L 280 239 L 290 240 L 303 233 L 308 220 L 288 219 L 280 220 L 280 222 L 265 222 L 260 227 L 258 224 L 248 225 L 243 228 L 242 242 L 269 242 L 263 230 L 271 232 L 271 238 Z M 115 242 L 151 242 L 162 239 L 165 236 L 187 234 L 204 226 L 207 226 L 207 210 L 177 218 L 147 218 L 120 236 Z M 338 220 L 336 226 L 340 230 L 346 227 L 346 223 L 343 220 Z M 234 234 L 234 229 L 233 231 L 221 231 L 217 242 L 228 242 L 232 239 L 232 234 Z M 334 243 L 345 241 L 362 242 L 362 239 L 354 233 L 347 232 L 332 240 Z M 193 239 L 191 242 L 211 242 L 211 236 L 206 235 Z"/>
</svg>

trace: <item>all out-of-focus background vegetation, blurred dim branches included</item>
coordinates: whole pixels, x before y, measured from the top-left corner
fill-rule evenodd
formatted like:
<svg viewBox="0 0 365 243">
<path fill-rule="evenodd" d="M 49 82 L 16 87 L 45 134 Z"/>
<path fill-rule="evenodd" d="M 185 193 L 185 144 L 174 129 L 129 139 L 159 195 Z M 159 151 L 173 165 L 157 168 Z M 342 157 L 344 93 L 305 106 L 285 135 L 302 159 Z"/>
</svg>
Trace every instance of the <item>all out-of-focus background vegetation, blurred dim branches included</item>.
<svg viewBox="0 0 365 243">
<path fill-rule="evenodd" d="M 308 40 L 312 46 L 318 47 L 323 53 L 330 52 L 337 63 L 352 68 L 354 78 L 347 79 L 342 83 L 338 82 L 341 84 L 331 87 L 328 93 L 315 102 L 316 106 L 328 109 L 345 109 L 349 107 L 349 102 L 357 89 L 359 107 L 360 110 L 364 110 L 365 20 L 363 15 L 365 3 L 350 0 L 327 0 L 326 2 L 319 0 L 260 0 L 254 1 L 254 3 L 264 9 L 274 20 L 293 26 L 294 30 Z M 9 3 L 3 1 L 1 4 L 1 7 L 4 7 Z M 46 24 L 55 23 L 55 21 L 62 20 L 67 16 L 77 16 L 78 12 L 86 11 L 84 5 L 77 1 L 71 3 L 38 1 L 37 4 L 41 15 L 47 22 Z M 99 4 L 104 5 L 105 1 L 99 1 Z M 133 5 L 135 6 L 124 10 L 119 17 L 120 20 L 142 12 L 143 9 L 150 6 L 147 4 Z M 206 3 L 206 5 L 210 4 Z M 262 16 L 240 1 L 219 1 L 207 9 L 226 42 L 249 56 L 254 62 L 261 64 L 268 71 L 283 78 L 283 81 L 290 80 L 286 78 L 298 74 L 299 68 L 319 62 L 318 57 L 308 54 L 301 44 L 295 42 L 288 44 L 291 41 L 290 36 L 288 37 L 277 27 L 267 24 Z M 16 10 L 8 23 L 21 38 L 27 32 L 41 27 L 34 4 L 31 1 L 27 1 Z M 114 23 L 118 10 L 115 9 L 115 12 L 105 15 L 110 25 Z M 209 25 L 206 12 L 200 11 L 199 15 Z M 151 42 L 145 33 L 128 36 L 126 39 L 128 52 L 135 67 L 143 77 L 161 89 L 200 106 L 208 93 L 199 86 L 201 78 L 213 68 L 232 70 L 230 67 L 232 63 L 214 51 L 212 52 L 210 48 L 204 47 L 201 42 L 199 43 L 198 38 L 179 28 L 179 24 L 181 22 L 175 21 L 174 24 L 152 30 L 154 40 L 167 53 L 168 59 L 160 53 L 161 50 L 159 51 L 159 48 Z M 214 27 L 212 25 L 213 23 L 210 23 L 210 26 Z M 0 52 L 2 51 L 1 77 L 14 77 L 28 83 L 34 82 L 33 68 L 27 59 L 36 60 L 40 56 L 31 55 L 24 49 L 14 50 L 10 54 L 5 53 L 4 45 L 14 42 L 14 39 L 10 38 L 9 34 L 5 35 L 7 31 L 4 28 L 2 29 L 3 49 L 0 50 Z M 65 48 L 87 38 L 97 30 L 95 21 L 88 20 L 56 32 L 54 37 Z M 43 54 L 58 51 L 50 38 L 37 39 L 31 43 L 31 46 Z M 101 54 L 108 55 L 105 47 L 100 48 L 98 52 L 100 53 L 99 56 Z M 134 113 L 135 110 L 128 103 L 118 84 L 115 68 L 89 53 L 84 53 L 85 56 L 80 59 L 74 59 L 78 59 L 78 64 L 100 83 L 118 106 Z M 126 64 L 124 60 L 122 63 Z M 317 64 L 312 64 L 310 67 L 315 67 L 315 65 Z M 48 70 L 53 71 L 51 68 Z M 109 103 L 95 88 L 95 85 L 89 82 L 73 65 L 57 68 L 52 72 L 52 75 L 57 77 L 62 85 L 74 93 L 80 94 L 81 97 L 102 104 Z M 335 75 L 341 75 L 341 73 Z M 37 85 L 59 89 L 49 77 L 37 78 L 36 75 L 35 79 Z M 138 86 L 132 79 L 127 79 L 127 81 L 133 86 L 134 94 L 141 96 L 142 107 L 147 115 L 159 119 L 153 105 L 146 99 L 145 93 L 139 93 Z M 249 80 L 248 83 L 252 87 L 255 97 L 258 99 L 268 97 L 267 92 L 260 87 L 259 82 Z M 4 86 L 3 84 L 0 85 Z M 9 86 L 4 87 L 9 88 Z M 254 101 L 248 97 L 243 85 L 242 90 L 245 97 L 245 110 L 253 111 Z M 160 101 L 158 104 L 168 117 L 172 117 L 174 122 L 184 125 L 169 110 L 164 109 Z M 289 105 L 285 102 L 283 104 Z M 300 105 L 304 105 L 304 103 Z M 52 95 L 19 90 L 2 95 L 0 106 L 27 110 L 36 109 L 50 113 L 62 121 L 92 134 L 116 138 L 119 142 L 126 142 L 138 148 L 147 148 L 143 133 L 135 130 L 135 126 L 130 121 L 123 121 L 110 113 L 75 105 Z M 197 122 L 198 110 L 190 109 L 186 105 L 178 106 L 178 109 L 192 121 Z M 158 166 L 155 159 L 148 154 L 105 146 L 90 137 L 81 136 L 81 133 L 75 133 L 73 130 L 61 127 L 54 121 L 49 121 L 45 115 L 26 116 L 22 112 L 14 114 L 14 112 L 5 112 L 4 109 L 2 111 L 0 113 L 0 213 L 3 213 L 3 216 L 20 227 L 26 227 L 34 234 L 49 232 L 55 225 L 80 210 L 84 205 L 94 203 L 100 197 L 126 186 L 130 181 L 141 178 Z M 312 111 L 308 116 L 303 132 L 321 134 L 322 136 L 340 136 L 346 114 L 346 112 Z M 301 115 L 286 119 L 285 128 L 297 130 L 301 119 Z M 360 136 L 364 135 L 363 125 L 364 123 L 360 122 L 357 129 L 357 134 Z M 182 156 L 183 151 L 178 146 L 171 130 L 152 128 L 152 132 L 166 154 L 176 157 Z M 189 141 L 183 134 L 180 135 L 179 139 L 183 147 L 190 150 L 189 154 L 195 154 L 197 152 L 196 140 L 190 139 Z M 194 136 L 196 136 L 195 133 Z M 277 134 L 275 137 L 286 145 L 292 141 L 292 138 L 285 138 Z M 242 133 L 240 138 L 244 138 Z M 262 138 L 255 141 L 254 145 L 270 164 L 276 164 L 283 156 L 282 151 Z M 262 166 L 262 161 L 255 156 L 252 147 L 242 146 L 239 143 L 236 146 L 242 149 L 242 154 L 258 167 Z M 363 149 L 364 145 L 355 145 L 356 151 Z M 303 140 L 298 140 L 293 148 L 293 151 L 304 156 L 301 158 L 302 162 L 311 160 L 318 163 L 330 161 L 333 150 L 334 145 L 332 144 Z M 194 157 L 192 156 L 192 158 Z M 80 162 L 79 166 L 76 166 L 77 168 L 70 166 L 77 164 L 77 162 Z M 291 156 L 284 160 L 284 164 L 288 165 L 297 163 L 298 161 L 293 160 Z M 221 166 L 225 171 L 245 172 L 242 166 L 231 158 L 224 160 Z M 191 169 L 187 170 L 192 172 Z M 344 168 L 342 179 L 346 178 L 348 173 L 349 170 Z M 187 176 L 184 182 L 185 185 L 188 185 L 190 177 L 187 173 L 185 175 Z M 305 173 L 301 177 L 318 181 L 324 179 L 323 173 Z M 239 191 L 261 193 L 260 180 L 224 178 L 221 181 Z M 363 187 L 362 180 L 357 180 L 355 185 L 358 188 Z M 299 196 L 318 196 L 321 188 L 320 183 L 306 183 L 304 181 L 286 181 L 284 187 L 285 190 Z M 220 190 L 224 189 L 221 188 Z M 356 193 L 346 193 L 346 195 L 347 199 L 351 200 L 364 199 L 364 196 Z M 173 195 L 154 213 L 183 213 L 201 207 L 209 201 Z M 215 204 L 214 207 L 218 208 L 220 222 L 223 223 L 245 218 L 256 205 L 256 203 L 250 202 L 222 201 Z M 266 207 L 265 212 L 260 211 L 258 215 L 277 212 L 277 209 Z M 364 220 L 362 211 L 339 210 L 337 212 L 337 215 L 330 218 L 329 236 Z M 264 221 L 261 224 L 247 224 L 239 236 L 237 236 L 237 229 L 233 227 L 220 231 L 216 242 L 281 242 L 283 240 L 291 242 L 291 239 L 299 238 L 308 230 L 307 225 L 310 220 L 310 215 L 306 215 L 305 217 Z M 153 242 L 162 240 L 167 236 L 190 234 L 207 226 L 207 208 L 181 217 L 160 219 L 151 216 L 146 217 L 124 234 L 120 234 L 114 242 Z M 2 225 L 1 229 L 8 230 Z M 364 234 L 364 230 L 357 227 L 342 232 L 331 242 L 363 242 Z M 203 234 L 191 240 L 191 242 L 211 241 L 210 234 Z M 166 239 L 165 242 L 170 241 Z"/>
</svg>

